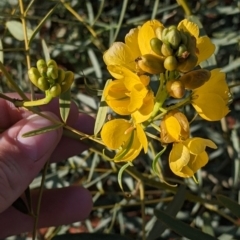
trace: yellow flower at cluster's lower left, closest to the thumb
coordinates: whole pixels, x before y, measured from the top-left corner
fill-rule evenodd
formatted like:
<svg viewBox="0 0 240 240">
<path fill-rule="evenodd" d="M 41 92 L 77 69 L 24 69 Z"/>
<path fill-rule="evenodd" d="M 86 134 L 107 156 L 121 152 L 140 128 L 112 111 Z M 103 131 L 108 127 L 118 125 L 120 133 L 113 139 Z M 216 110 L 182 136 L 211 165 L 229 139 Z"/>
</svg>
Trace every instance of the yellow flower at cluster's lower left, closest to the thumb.
<svg viewBox="0 0 240 240">
<path fill-rule="evenodd" d="M 148 141 L 140 124 L 135 126 L 125 119 L 114 119 L 103 125 L 103 143 L 112 150 L 118 150 L 113 161 L 133 161 L 142 148 L 147 152 Z"/>
</svg>

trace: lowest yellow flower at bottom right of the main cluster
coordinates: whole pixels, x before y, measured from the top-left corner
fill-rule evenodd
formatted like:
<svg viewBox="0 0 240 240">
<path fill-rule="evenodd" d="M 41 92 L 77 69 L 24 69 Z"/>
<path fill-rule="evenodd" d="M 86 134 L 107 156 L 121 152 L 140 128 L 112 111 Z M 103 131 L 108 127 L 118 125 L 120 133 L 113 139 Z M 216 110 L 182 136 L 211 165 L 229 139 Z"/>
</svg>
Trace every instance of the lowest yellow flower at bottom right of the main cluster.
<svg viewBox="0 0 240 240">
<path fill-rule="evenodd" d="M 183 178 L 192 177 L 208 162 L 206 147 L 217 148 L 214 142 L 203 138 L 191 138 L 181 143 L 175 143 L 169 155 L 172 172 Z"/>
</svg>

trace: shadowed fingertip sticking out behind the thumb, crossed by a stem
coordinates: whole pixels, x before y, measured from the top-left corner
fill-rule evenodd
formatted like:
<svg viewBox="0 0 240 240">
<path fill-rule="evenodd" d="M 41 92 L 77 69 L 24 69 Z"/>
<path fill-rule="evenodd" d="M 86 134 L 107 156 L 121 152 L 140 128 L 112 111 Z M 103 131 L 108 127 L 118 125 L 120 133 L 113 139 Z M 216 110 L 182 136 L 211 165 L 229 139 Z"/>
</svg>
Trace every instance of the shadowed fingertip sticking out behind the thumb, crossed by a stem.
<svg viewBox="0 0 240 240">
<path fill-rule="evenodd" d="M 72 127 L 86 134 L 93 134 L 94 119 L 88 115 L 79 114 L 78 119 Z M 89 145 L 81 142 L 80 138 L 79 136 L 79 140 L 75 140 L 68 137 L 62 137 L 51 156 L 51 162 L 59 162 L 87 150 Z"/>
</svg>

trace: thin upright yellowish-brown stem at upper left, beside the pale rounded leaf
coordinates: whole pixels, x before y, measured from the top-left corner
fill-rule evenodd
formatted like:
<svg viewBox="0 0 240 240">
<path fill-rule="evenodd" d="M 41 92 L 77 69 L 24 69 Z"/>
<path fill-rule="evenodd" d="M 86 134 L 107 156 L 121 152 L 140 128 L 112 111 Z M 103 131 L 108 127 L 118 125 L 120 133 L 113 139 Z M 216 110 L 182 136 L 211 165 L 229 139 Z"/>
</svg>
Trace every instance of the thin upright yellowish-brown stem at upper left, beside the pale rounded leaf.
<svg viewBox="0 0 240 240">
<path fill-rule="evenodd" d="M 23 1 L 18 0 L 19 7 L 20 7 L 20 13 L 21 13 L 21 21 L 23 25 L 23 34 L 24 34 L 24 44 L 25 44 L 25 51 L 26 51 L 26 60 L 27 60 L 27 68 L 31 68 L 31 60 L 30 60 L 30 54 L 29 54 L 29 46 L 28 46 L 28 36 L 27 36 L 27 24 L 25 21 L 25 17 L 27 14 L 27 11 L 24 11 Z M 31 91 L 31 99 L 34 99 L 34 90 L 33 90 L 33 84 L 29 81 L 30 84 L 30 91 Z"/>
</svg>

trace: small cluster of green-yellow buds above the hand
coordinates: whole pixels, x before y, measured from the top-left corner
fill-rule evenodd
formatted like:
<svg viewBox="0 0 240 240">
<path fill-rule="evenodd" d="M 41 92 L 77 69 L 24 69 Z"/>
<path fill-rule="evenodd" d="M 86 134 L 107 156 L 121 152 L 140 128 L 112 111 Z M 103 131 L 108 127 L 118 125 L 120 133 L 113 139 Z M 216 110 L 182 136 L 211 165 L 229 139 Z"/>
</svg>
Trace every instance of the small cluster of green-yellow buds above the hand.
<svg viewBox="0 0 240 240">
<path fill-rule="evenodd" d="M 52 59 L 47 63 L 43 59 L 38 60 L 37 67 L 28 70 L 28 77 L 36 87 L 52 97 L 66 92 L 74 81 L 73 72 L 58 68 Z"/>
</svg>

